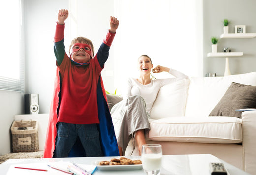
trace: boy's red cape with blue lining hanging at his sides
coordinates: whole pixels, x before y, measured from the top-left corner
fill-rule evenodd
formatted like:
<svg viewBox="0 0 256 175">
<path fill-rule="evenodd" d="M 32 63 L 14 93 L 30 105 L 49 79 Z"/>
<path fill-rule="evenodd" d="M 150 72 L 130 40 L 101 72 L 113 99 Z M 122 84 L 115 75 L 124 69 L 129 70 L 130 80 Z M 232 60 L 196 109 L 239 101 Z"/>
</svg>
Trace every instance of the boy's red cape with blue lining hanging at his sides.
<svg viewBox="0 0 256 175">
<path fill-rule="evenodd" d="M 55 138 L 57 135 L 57 108 L 59 106 L 59 92 L 60 92 L 60 76 L 57 68 L 56 78 L 54 81 L 54 95 L 51 102 L 51 109 L 49 113 L 49 124 L 46 135 L 46 142 L 44 147 L 44 158 L 52 158 L 55 149 Z M 119 156 L 117 140 L 114 132 L 112 118 L 107 106 L 107 98 L 105 88 L 101 76 L 98 80 L 97 86 L 97 103 L 99 113 L 99 132 L 101 137 L 101 147 L 104 156 Z M 83 148 L 82 148 L 83 149 Z M 80 151 L 77 151 L 78 154 Z M 78 155 L 75 154 L 75 155 Z"/>
</svg>

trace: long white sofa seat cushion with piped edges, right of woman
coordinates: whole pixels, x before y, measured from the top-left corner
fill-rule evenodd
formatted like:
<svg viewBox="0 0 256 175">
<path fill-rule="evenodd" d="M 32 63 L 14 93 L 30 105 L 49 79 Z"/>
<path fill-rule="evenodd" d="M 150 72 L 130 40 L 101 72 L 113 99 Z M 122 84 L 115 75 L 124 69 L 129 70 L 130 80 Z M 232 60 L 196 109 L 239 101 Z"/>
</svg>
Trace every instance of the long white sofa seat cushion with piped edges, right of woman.
<svg viewBox="0 0 256 175">
<path fill-rule="evenodd" d="M 168 117 L 150 120 L 148 137 L 156 141 L 241 143 L 242 121 L 236 117 Z"/>
</svg>

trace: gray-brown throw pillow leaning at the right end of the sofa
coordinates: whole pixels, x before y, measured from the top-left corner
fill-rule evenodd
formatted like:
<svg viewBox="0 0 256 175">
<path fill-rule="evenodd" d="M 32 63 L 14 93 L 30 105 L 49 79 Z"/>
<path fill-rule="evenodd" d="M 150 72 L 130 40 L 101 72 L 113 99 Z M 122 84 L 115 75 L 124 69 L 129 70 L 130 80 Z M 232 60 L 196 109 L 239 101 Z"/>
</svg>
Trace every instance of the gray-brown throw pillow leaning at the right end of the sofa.
<svg viewBox="0 0 256 175">
<path fill-rule="evenodd" d="M 256 86 L 232 82 L 226 93 L 209 116 L 231 116 L 241 118 L 236 109 L 256 107 Z"/>
</svg>

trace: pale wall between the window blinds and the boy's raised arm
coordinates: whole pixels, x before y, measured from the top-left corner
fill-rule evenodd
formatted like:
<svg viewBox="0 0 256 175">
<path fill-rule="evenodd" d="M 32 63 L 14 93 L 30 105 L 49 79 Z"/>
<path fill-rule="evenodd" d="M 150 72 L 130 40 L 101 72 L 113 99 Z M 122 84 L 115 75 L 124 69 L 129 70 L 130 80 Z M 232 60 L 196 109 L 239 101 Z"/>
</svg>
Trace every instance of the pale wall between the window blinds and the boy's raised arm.
<svg viewBox="0 0 256 175">
<path fill-rule="evenodd" d="M 53 37 L 58 10 L 63 8 L 68 9 L 68 0 L 25 0 L 26 93 L 39 94 L 39 113 L 50 109 L 56 74 Z"/>
</svg>

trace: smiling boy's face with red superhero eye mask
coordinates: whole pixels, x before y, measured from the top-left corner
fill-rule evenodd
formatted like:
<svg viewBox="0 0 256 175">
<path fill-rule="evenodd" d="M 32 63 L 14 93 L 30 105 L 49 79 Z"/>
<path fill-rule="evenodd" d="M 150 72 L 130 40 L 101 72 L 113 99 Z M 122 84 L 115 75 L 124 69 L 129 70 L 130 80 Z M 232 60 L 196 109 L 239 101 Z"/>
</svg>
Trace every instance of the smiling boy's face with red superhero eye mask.
<svg viewBox="0 0 256 175">
<path fill-rule="evenodd" d="M 75 43 L 71 48 L 70 57 L 78 63 L 89 62 L 92 58 L 92 49 L 88 44 Z"/>
</svg>

